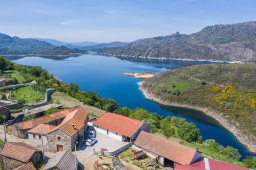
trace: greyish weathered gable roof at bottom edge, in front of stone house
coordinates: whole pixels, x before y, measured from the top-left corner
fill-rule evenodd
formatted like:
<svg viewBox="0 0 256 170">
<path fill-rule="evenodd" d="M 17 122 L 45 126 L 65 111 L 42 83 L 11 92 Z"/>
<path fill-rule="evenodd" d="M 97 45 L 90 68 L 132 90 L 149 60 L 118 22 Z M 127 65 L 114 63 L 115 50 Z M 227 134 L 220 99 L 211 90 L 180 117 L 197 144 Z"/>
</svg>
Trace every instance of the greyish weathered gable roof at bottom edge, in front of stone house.
<svg viewBox="0 0 256 170">
<path fill-rule="evenodd" d="M 77 160 L 78 163 L 78 160 Z M 55 153 L 52 158 L 45 165 L 43 170 L 58 168 L 62 170 L 74 170 L 75 169 L 75 156 L 69 151 L 61 151 Z"/>
</svg>

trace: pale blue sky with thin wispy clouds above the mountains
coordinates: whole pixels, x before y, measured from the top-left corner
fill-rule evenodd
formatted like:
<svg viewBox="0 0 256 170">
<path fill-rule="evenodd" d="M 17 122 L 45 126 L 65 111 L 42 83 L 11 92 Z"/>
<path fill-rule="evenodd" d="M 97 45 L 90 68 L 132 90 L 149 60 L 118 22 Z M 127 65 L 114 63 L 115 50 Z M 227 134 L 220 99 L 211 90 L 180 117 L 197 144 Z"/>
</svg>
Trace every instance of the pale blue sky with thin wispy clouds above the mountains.
<svg viewBox="0 0 256 170">
<path fill-rule="evenodd" d="M 254 0 L 0 0 L 0 33 L 63 42 L 131 42 L 256 20 Z"/>
</svg>

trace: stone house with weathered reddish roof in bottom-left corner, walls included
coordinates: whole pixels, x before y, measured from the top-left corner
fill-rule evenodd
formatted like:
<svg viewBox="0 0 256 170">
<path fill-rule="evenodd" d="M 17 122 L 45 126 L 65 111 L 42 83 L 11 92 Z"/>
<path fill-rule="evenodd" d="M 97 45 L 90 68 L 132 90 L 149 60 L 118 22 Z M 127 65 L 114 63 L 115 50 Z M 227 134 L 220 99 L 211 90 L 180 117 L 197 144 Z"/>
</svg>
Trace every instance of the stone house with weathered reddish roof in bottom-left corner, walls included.
<svg viewBox="0 0 256 170">
<path fill-rule="evenodd" d="M 1 167 L 12 170 L 29 163 L 37 164 L 42 160 L 42 151 L 22 142 L 6 142 L 0 151 Z"/>
</svg>

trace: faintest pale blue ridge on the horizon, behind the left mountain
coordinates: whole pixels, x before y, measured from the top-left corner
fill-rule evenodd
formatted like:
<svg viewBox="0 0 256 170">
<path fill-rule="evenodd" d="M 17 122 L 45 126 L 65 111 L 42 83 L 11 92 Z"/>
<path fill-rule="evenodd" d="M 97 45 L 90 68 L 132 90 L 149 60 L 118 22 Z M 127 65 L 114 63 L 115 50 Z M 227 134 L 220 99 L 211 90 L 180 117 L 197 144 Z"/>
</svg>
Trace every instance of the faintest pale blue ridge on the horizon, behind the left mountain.
<svg viewBox="0 0 256 170">
<path fill-rule="evenodd" d="M 65 45 L 66 47 L 69 47 L 69 48 L 79 48 L 79 47 L 83 47 L 83 46 L 91 46 L 91 45 L 101 44 L 101 43 L 95 43 L 95 42 L 65 43 L 65 42 L 55 40 L 55 39 L 48 39 L 48 38 L 29 38 L 29 39 L 36 39 L 36 40 L 42 41 L 42 42 L 44 41 L 44 42 L 50 43 L 55 46 Z"/>
</svg>

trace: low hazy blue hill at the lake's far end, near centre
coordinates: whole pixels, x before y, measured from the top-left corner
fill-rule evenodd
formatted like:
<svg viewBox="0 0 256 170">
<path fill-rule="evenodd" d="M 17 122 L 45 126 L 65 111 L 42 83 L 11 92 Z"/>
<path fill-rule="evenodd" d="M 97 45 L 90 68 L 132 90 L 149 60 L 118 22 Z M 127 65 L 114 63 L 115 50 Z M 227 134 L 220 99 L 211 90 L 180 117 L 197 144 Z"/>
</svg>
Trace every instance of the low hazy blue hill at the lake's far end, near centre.
<svg viewBox="0 0 256 170">
<path fill-rule="evenodd" d="M 87 50 L 87 51 L 98 51 L 98 50 L 102 50 L 103 48 L 123 47 L 129 44 L 130 43 L 125 43 L 125 42 L 111 42 L 111 43 L 102 43 L 102 44 L 92 45 L 92 46 L 84 46 L 84 47 L 81 47 L 80 49 Z"/>
</svg>

